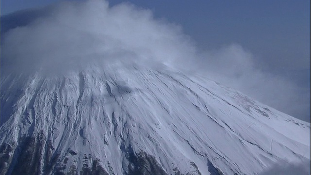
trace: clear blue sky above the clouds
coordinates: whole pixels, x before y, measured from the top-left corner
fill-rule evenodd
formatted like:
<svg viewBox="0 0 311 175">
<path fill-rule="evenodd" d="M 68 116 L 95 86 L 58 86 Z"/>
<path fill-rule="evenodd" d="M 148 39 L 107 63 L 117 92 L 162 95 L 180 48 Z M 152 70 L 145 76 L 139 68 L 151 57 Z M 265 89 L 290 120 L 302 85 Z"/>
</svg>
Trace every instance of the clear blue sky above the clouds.
<svg viewBox="0 0 311 175">
<path fill-rule="evenodd" d="M 1 0 L 1 15 L 58 1 Z M 180 25 L 199 50 L 241 45 L 258 69 L 285 77 L 310 96 L 310 0 L 109 0 L 111 6 L 120 2 Z"/>
</svg>

